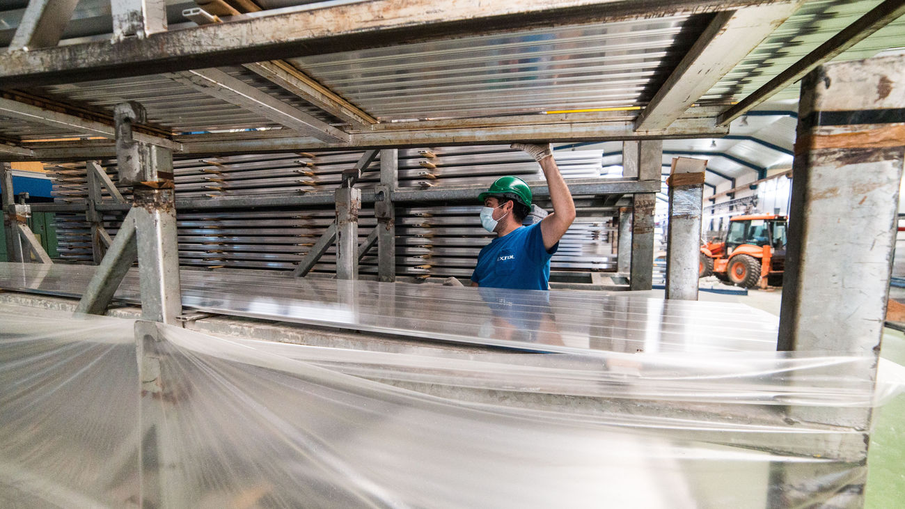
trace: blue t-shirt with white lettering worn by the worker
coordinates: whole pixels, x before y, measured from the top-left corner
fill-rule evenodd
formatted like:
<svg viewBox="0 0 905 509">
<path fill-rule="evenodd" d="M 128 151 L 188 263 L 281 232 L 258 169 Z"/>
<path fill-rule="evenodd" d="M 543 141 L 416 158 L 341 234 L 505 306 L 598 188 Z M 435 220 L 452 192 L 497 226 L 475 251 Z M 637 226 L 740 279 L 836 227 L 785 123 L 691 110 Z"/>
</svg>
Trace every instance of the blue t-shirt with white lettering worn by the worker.
<svg viewBox="0 0 905 509">
<path fill-rule="evenodd" d="M 516 228 L 481 249 L 472 282 L 490 288 L 548 290 L 550 257 L 558 246 L 557 242 L 549 251 L 544 247 L 540 223 Z"/>
</svg>

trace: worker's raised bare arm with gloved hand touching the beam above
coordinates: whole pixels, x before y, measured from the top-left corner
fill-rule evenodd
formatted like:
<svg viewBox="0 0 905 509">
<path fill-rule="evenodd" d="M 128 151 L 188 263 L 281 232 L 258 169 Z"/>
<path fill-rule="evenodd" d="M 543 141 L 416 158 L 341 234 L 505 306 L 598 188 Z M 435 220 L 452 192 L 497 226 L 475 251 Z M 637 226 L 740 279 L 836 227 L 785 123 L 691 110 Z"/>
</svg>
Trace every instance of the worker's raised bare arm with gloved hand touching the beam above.
<svg viewBox="0 0 905 509">
<path fill-rule="evenodd" d="M 540 233 L 544 236 L 544 246 L 549 249 L 556 245 L 563 235 L 566 235 L 566 230 L 575 221 L 575 203 L 572 201 L 572 193 L 568 190 L 566 180 L 559 174 L 559 167 L 553 158 L 553 149 L 549 143 L 543 145 L 514 143 L 511 147 L 524 150 L 534 157 L 540 168 L 544 170 L 544 178 L 547 178 L 553 213 L 544 217 L 540 222 Z"/>
</svg>

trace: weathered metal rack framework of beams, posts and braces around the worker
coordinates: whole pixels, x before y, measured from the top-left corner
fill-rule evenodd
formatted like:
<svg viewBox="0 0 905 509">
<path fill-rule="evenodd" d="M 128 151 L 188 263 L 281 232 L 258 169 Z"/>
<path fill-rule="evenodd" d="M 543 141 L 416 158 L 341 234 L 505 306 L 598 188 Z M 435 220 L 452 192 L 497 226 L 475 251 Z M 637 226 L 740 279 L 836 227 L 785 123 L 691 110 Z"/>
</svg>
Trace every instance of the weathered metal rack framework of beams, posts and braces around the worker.
<svg viewBox="0 0 905 509">
<path fill-rule="evenodd" d="M 803 111 L 799 116 L 800 143 L 795 151 L 795 191 L 793 230 L 790 235 L 787 285 L 784 299 L 779 345 L 789 350 L 826 347 L 834 351 L 857 350 L 876 355 L 879 351 L 882 302 L 889 283 L 891 232 L 895 210 L 890 194 L 898 191 L 901 177 L 901 123 L 891 118 L 890 111 L 900 111 L 901 104 L 887 101 L 900 97 L 889 91 L 905 83 L 901 59 L 882 62 L 836 63 L 818 67 L 853 43 L 890 23 L 903 12 L 903 3 L 887 0 L 838 38 L 796 63 L 774 82 L 765 85 L 737 106 L 694 107 L 700 97 L 719 82 L 757 44 L 771 34 L 778 24 L 793 14 L 800 0 L 662 0 L 654 3 L 619 2 L 614 0 L 525 0 L 517 3 L 462 0 L 435 3 L 428 0 L 372 0 L 370 2 L 303 5 L 279 13 L 238 12 L 214 14 L 193 9 L 192 19 L 202 24 L 168 29 L 163 2 L 113 1 L 112 40 L 89 40 L 57 45 L 63 23 L 71 14 L 71 0 L 33 0 L 19 25 L 10 51 L 0 53 L 0 80 L 8 90 L 0 91 L 0 115 L 7 118 L 49 126 L 65 139 L 29 139 L 4 136 L 0 139 L 2 160 L 97 160 L 117 158 L 119 182 L 133 187 L 129 205 L 115 186 L 89 164 L 90 186 L 88 218 L 92 244 L 100 267 L 80 303 L 81 312 L 103 312 L 112 299 L 119 281 L 138 259 L 143 317 L 151 322 L 176 322 L 181 312 L 178 257 L 176 253 L 176 208 L 301 206 L 336 204 L 334 226 L 323 235 L 311 254 L 303 260 L 295 275 L 310 270 L 320 254 L 334 241 L 338 245 L 338 277 L 357 277 L 357 261 L 375 243 L 380 259 L 379 278 L 393 281 L 394 206 L 414 201 L 445 201 L 476 197 L 481 187 L 441 187 L 401 189 L 397 187 L 395 149 L 401 147 L 491 144 L 501 141 L 624 141 L 624 177 L 616 180 L 592 179 L 570 182 L 576 195 L 633 195 L 633 210 L 620 218 L 620 231 L 631 235 L 620 239 L 620 245 L 631 245 L 630 255 L 620 249 L 620 267 L 628 268 L 633 290 L 652 286 L 653 206 L 660 190 L 662 139 L 714 138 L 729 133 L 729 121 L 738 117 L 772 91 L 807 72 L 803 82 Z M 233 9 L 234 11 L 234 9 Z M 380 12 L 379 17 L 374 16 Z M 427 117 L 383 120 L 352 101 L 311 79 L 281 59 L 317 53 L 368 50 L 391 45 L 435 42 L 443 38 L 465 35 L 500 34 L 517 29 L 581 26 L 610 23 L 639 17 L 657 18 L 684 14 L 706 16 L 707 23 L 695 34 L 693 43 L 668 75 L 656 84 L 649 101 L 638 108 L 575 110 L 567 112 L 512 111 L 511 114 L 439 118 Z M 222 16 L 222 17 L 221 17 Z M 699 18 L 700 20 L 701 18 Z M 277 59 L 277 60 L 274 60 Z M 238 79 L 225 70 L 241 65 L 245 71 L 262 77 L 268 86 L 281 93 L 291 92 L 315 107 L 305 110 L 269 94 L 262 87 Z M 213 67 L 212 67 L 213 66 Z M 256 113 L 280 129 L 243 130 L 240 132 L 183 132 L 148 121 L 139 105 L 119 104 L 115 110 L 84 108 L 75 103 L 57 101 L 24 92 L 33 86 L 89 82 L 99 75 L 107 79 L 131 78 L 161 74 L 167 82 L 176 82 L 189 90 L 238 109 Z M 826 79 L 824 78 L 831 78 Z M 885 81 L 884 81 L 885 80 Z M 829 87 L 832 91 L 821 89 Z M 874 106 L 851 111 L 834 101 L 850 101 L 862 94 L 861 87 L 870 82 Z M 825 85 L 824 85 L 825 83 Z M 862 94 L 863 95 L 863 94 Z M 834 99 L 841 98 L 841 99 Z M 884 102 L 885 101 L 885 102 Z M 844 102 L 845 105 L 848 102 Z M 881 106 L 876 106 L 881 104 Z M 840 117 L 843 109 L 848 116 Z M 885 113 L 884 113 L 885 112 Z M 864 117 L 866 115 L 866 117 Z M 886 115 L 886 116 L 884 116 Z M 327 118 L 328 120 L 324 120 Z M 834 119 L 834 120 L 832 120 Z M 866 120 L 865 120 L 866 119 Z M 339 120 L 339 121 L 335 121 Z M 395 121 L 394 121 L 395 120 Z M 898 117 L 900 120 L 900 117 Z M 858 125 L 859 130 L 852 126 Z M 867 127 L 865 127 L 867 126 Z M 54 131 L 54 132 L 57 132 Z M 844 131 L 844 132 L 843 132 Z M 73 136 L 74 135 L 74 136 Z M 100 137 L 86 139 L 84 137 Z M 294 197 L 224 197 L 216 200 L 175 200 L 173 194 L 172 157 L 208 154 L 242 154 L 260 152 L 295 152 L 301 149 L 369 149 L 358 161 L 336 192 L 315 192 Z M 380 185 L 362 190 L 354 187 L 380 151 Z M 862 150 L 862 152 L 857 152 Z M 856 153 L 856 157 L 849 155 Z M 824 157 L 826 155 L 832 157 Z M 866 159 L 865 159 L 866 158 Z M 832 161 L 826 163 L 827 160 Z M 867 160 L 863 164 L 861 160 Z M 857 166 L 858 171 L 849 167 Z M 9 170 L 4 167 L 4 184 Z M 675 176 L 673 176 L 675 177 Z M 875 187 L 865 189 L 862 202 L 858 197 L 842 196 L 839 187 L 856 185 L 872 178 Z M 852 181 L 854 180 L 854 181 Z M 538 183 L 540 184 L 540 183 Z M 832 186 L 836 186 L 833 194 Z M 12 204 L 12 189 L 4 186 L 5 225 L 12 225 L 24 209 Z M 106 187 L 112 203 L 101 199 Z M 700 197 L 700 186 L 689 192 Z M 734 187 L 734 186 L 733 186 Z M 533 187 L 536 197 L 548 196 L 543 185 Z M 671 192 L 671 216 L 676 220 L 672 194 L 684 192 L 676 187 Z M 857 194 L 857 193 L 855 193 Z M 882 197 L 874 203 L 875 196 Z M 833 211 L 849 210 L 868 200 L 870 210 L 851 216 L 843 222 L 832 217 Z M 362 203 L 374 203 L 378 226 L 368 235 L 364 245 L 357 244 L 357 212 Z M 700 198 L 698 216 L 688 217 L 688 234 L 696 221 L 700 231 Z M 61 204 L 33 206 L 33 210 L 81 211 L 83 207 Z M 103 211 L 128 210 L 125 226 L 110 239 L 102 226 Z M 832 220 L 831 220 L 832 219 Z M 21 222 L 16 219 L 18 233 Z M 671 227 L 672 227 L 671 222 Z M 859 250 L 856 239 L 869 231 L 879 239 L 881 248 Z M 11 235 L 14 239 L 27 235 Z M 671 238 L 672 238 L 671 233 Z M 674 245 L 687 255 L 697 238 L 683 235 Z M 629 238 L 630 237 L 630 240 Z M 10 238 L 9 236 L 7 238 Z M 825 274 L 825 264 L 815 264 L 811 251 L 821 248 L 822 241 L 832 239 L 842 247 L 830 254 L 837 264 L 833 274 Z M 851 241 L 851 242 L 850 242 Z M 681 244 L 681 245 L 679 245 Z M 106 254 L 100 256 L 100 251 Z M 11 252 L 13 252 L 13 249 Z M 19 249 L 21 251 L 21 248 Z M 671 250 L 672 253 L 672 250 Z M 678 253 L 678 251 L 677 251 Z M 807 255 L 807 256 L 805 256 Z M 671 255 L 671 260 L 676 260 Z M 854 261 L 853 261 L 854 260 Z M 848 267 L 869 266 L 871 270 L 852 284 L 839 283 Z M 805 286 L 818 271 L 831 283 Z M 678 279 L 670 286 L 673 296 L 692 298 L 680 292 L 689 278 Z M 862 292 L 870 280 L 870 295 Z M 671 274 L 672 282 L 672 274 Z M 696 283 L 696 280 L 695 280 Z M 678 287 L 676 285 L 679 285 Z M 681 287 L 681 288 L 680 288 Z M 816 289 L 816 290 L 815 290 Z M 826 292 L 815 298 L 814 291 Z M 828 301 L 831 301 L 828 303 Z M 825 320 L 824 310 L 842 308 L 857 302 L 852 317 Z M 817 305 L 817 308 L 813 306 Z M 829 304 L 829 305 L 828 305 Z M 849 327 L 840 329 L 840 322 Z M 869 324 L 865 329 L 864 323 Z M 137 337 L 153 353 L 154 334 L 149 325 L 137 326 Z M 841 332 L 843 331 L 843 332 Z M 827 342 L 827 338 L 837 341 Z M 139 358 L 144 354 L 139 352 Z M 153 370 L 153 361 L 141 358 L 142 370 Z M 153 395 L 151 395 L 153 396 Z M 844 414 L 844 413 L 843 413 Z M 154 416 L 150 417 L 152 420 Z M 869 433 L 868 415 L 801 416 L 827 425 L 854 427 Z M 827 444 L 831 452 L 833 445 Z M 857 460 L 866 461 L 866 440 Z M 794 475 L 787 485 L 795 486 Z M 148 493 L 154 492 L 148 487 Z M 792 489 L 792 488 L 790 488 Z M 154 500 L 157 495 L 152 495 Z M 835 502 L 835 501 L 831 501 Z"/>
</svg>

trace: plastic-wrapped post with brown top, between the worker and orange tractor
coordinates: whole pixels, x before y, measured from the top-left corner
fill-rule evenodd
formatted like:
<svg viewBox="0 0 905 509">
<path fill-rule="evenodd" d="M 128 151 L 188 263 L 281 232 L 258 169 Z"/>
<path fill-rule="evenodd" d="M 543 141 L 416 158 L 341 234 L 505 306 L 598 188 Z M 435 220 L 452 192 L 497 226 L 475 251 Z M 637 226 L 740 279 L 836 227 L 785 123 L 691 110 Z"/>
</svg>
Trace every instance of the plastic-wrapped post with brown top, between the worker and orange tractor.
<svg viewBox="0 0 905 509">
<path fill-rule="evenodd" d="M 700 216 L 706 159 L 673 158 L 666 183 L 670 222 L 666 241 L 666 298 L 698 300 Z"/>
</svg>

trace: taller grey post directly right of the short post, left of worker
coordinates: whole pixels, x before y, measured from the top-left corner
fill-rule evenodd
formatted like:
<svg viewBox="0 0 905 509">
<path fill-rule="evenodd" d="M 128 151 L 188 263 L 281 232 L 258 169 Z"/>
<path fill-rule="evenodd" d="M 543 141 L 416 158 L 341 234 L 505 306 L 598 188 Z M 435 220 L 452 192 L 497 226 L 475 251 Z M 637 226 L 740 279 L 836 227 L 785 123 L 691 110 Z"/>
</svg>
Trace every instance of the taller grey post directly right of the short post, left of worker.
<svg viewBox="0 0 905 509">
<path fill-rule="evenodd" d="M 399 151 L 380 151 L 380 185 L 376 188 L 374 213 L 377 216 L 377 276 L 395 281 L 395 206 L 392 195 L 399 185 Z"/>
</svg>

